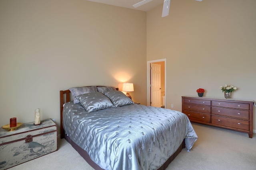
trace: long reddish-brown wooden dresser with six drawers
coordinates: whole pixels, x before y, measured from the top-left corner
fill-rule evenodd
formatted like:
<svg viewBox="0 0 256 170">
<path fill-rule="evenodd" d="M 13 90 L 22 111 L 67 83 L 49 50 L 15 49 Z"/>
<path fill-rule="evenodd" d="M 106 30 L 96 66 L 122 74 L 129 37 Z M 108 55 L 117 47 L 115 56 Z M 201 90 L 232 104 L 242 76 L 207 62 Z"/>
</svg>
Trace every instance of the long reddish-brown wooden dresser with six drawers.
<svg viewBox="0 0 256 170">
<path fill-rule="evenodd" d="M 182 96 L 182 113 L 191 122 L 245 132 L 252 138 L 253 101 Z"/>
</svg>

